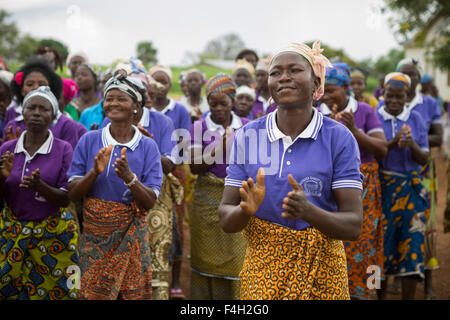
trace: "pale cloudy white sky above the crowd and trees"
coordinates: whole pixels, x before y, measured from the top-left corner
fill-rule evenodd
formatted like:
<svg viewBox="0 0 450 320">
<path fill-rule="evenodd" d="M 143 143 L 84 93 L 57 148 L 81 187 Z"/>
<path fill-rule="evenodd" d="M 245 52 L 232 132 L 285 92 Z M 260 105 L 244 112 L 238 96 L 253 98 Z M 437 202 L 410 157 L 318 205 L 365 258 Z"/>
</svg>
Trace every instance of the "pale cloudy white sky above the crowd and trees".
<svg viewBox="0 0 450 320">
<path fill-rule="evenodd" d="M 135 55 L 153 41 L 159 62 L 182 65 L 187 51 L 237 33 L 248 48 L 271 53 L 284 44 L 319 39 L 354 59 L 377 58 L 399 47 L 381 0 L 107 1 L 13 0 L 5 8 L 22 34 L 51 37 L 93 63 Z M 0 5 L 1 6 L 1 5 Z"/>
</svg>

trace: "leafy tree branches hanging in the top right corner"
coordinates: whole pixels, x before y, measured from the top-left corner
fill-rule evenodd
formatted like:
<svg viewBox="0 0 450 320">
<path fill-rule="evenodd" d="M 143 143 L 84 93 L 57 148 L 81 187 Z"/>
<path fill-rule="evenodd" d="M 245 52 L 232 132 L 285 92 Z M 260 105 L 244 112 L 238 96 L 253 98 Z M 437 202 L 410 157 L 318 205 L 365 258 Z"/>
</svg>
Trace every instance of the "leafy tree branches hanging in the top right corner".
<svg viewBox="0 0 450 320">
<path fill-rule="evenodd" d="M 444 19 L 443 29 L 438 36 L 424 43 L 433 55 L 433 61 L 437 66 L 450 68 L 448 48 L 450 47 L 450 1 L 448 0 L 385 0 L 386 6 L 382 12 L 393 12 L 396 15 L 390 18 L 390 24 L 394 29 L 394 35 L 399 42 L 410 40 L 413 35 L 424 30 L 427 25 L 438 17 Z"/>
</svg>

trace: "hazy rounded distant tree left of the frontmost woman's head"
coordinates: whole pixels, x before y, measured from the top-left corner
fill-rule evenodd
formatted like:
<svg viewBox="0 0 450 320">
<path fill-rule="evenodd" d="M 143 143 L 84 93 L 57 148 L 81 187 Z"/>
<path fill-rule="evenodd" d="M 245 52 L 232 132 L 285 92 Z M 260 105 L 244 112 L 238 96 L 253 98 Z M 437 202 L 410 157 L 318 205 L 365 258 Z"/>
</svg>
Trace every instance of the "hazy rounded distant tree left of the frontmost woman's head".
<svg viewBox="0 0 450 320">
<path fill-rule="evenodd" d="M 245 48 L 245 43 L 235 33 L 229 33 L 210 40 L 205 49 L 200 53 L 201 60 L 224 59 L 234 60 L 238 53 Z"/>
</svg>

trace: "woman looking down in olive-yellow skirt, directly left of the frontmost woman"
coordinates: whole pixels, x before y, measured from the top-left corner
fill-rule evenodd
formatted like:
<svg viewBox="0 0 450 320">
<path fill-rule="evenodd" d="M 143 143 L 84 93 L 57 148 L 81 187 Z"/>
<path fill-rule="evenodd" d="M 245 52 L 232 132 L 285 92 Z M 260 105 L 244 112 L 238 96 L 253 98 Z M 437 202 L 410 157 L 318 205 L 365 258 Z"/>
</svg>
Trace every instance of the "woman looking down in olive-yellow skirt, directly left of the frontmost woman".
<svg viewBox="0 0 450 320">
<path fill-rule="evenodd" d="M 227 154 L 234 131 L 248 122 L 231 110 L 236 85 L 219 73 L 208 80 L 206 98 L 211 112 L 191 127 L 191 171 L 198 174 L 190 215 L 191 299 L 239 299 L 239 272 L 245 254 L 242 234 L 227 234 L 217 209 L 226 176 Z M 228 147 L 228 148 L 227 148 Z"/>
</svg>

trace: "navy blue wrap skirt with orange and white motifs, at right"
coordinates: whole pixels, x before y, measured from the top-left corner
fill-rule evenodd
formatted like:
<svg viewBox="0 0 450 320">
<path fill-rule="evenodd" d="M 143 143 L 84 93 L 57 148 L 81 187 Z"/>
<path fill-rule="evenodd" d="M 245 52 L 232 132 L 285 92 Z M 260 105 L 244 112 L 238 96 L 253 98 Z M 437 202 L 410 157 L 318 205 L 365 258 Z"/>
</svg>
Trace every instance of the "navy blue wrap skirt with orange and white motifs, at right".
<svg viewBox="0 0 450 320">
<path fill-rule="evenodd" d="M 430 210 L 416 171 L 380 171 L 386 275 L 424 277 L 424 235 Z"/>
</svg>

